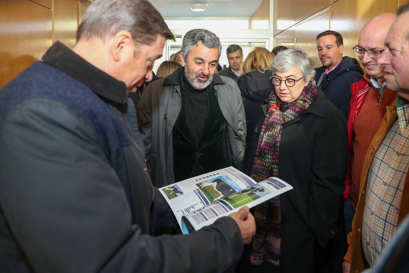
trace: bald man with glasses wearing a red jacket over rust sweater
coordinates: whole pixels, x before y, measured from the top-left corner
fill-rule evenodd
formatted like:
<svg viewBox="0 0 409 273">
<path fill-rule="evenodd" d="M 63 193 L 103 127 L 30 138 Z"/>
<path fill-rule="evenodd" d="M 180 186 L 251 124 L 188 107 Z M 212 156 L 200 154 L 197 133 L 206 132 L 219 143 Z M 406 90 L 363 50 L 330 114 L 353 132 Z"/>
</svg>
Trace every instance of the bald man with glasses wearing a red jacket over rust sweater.
<svg viewBox="0 0 409 273">
<path fill-rule="evenodd" d="M 378 58 L 385 49 L 385 36 L 395 19 L 396 15 L 393 13 L 376 16 L 362 28 L 358 44 L 353 47 L 367 74 L 351 85 L 352 97 L 347 123 L 349 158 L 345 178 L 346 191 L 350 189 L 351 195 L 344 202 L 346 234 L 352 231 L 366 151 L 386 113 L 385 106 L 391 105 L 396 99 L 396 93 L 386 88 L 384 69 L 378 65 Z"/>
</svg>

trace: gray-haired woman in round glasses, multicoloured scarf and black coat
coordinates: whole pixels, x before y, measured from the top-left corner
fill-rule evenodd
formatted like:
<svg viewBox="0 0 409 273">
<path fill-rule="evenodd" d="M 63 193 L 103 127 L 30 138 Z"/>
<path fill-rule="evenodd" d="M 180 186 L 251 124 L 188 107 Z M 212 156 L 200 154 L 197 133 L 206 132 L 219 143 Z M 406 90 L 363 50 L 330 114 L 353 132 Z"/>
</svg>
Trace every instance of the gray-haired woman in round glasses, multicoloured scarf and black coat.
<svg viewBox="0 0 409 273">
<path fill-rule="evenodd" d="M 256 127 L 251 176 L 279 177 L 294 189 L 255 207 L 256 235 L 236 271 L 322 272 L 330 239 L 343 238 L 346 120 L 317 88 L 306 52 L 280 51 L 270 70 L 274 90 Z"/>
</svg>

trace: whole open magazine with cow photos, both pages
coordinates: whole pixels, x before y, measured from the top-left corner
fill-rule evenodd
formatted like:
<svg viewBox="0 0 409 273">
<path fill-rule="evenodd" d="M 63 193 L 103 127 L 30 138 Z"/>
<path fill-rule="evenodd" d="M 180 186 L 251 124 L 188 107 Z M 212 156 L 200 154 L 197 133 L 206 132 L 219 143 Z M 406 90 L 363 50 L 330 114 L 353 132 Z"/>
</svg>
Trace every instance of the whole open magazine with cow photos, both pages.
<svg viewBox="0 0 409 273">
<path fill-rule="evenodd" d="M 270 177 L 256 183 L 234 167 L 195 176 L 160 188 L 183 234 L 208 226 L 218 218 L 254 207 L 291 190 L 283 180 Z"/>
</svg>

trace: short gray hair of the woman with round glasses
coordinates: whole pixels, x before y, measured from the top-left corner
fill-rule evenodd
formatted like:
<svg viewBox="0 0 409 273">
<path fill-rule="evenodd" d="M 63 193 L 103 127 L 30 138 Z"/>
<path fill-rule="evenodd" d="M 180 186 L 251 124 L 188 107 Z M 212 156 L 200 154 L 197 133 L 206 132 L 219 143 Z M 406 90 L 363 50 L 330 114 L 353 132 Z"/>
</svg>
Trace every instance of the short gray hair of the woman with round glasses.
<svg viewBox="0 0 409 273">
<path fill-rule="evenodd" d="M 275 72 L 285 72 L 293 66 L 298 66 L 304 77 L 304 82 L 310 81 L 315 76 L 315 63 L 308 54 L 301 49 L 286 49 L 277 53 L 270 64 L 270 70 Z"/>
</svg>

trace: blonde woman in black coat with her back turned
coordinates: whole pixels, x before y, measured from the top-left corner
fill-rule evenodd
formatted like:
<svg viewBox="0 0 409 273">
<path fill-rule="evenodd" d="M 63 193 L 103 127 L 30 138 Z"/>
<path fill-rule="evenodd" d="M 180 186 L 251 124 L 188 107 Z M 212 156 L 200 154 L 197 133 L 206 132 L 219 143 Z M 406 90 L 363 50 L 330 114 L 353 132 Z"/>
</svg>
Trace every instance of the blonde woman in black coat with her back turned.
<svg viewBox="0 0 409 273">
<path fill-rule="evenodd" d="M 271 91 L 274 90 L 270 77 L 270 63 L 274 59 L 274 54 L 264 47 L 254 47 L 246 59 L 243 61 L 237 85 L 240 88 L 241 98 L 243 99 L 244 110 L 246 114 L 247 135 L 245 157 L 243 159 L 243 171 L 250 175 L 252 157 L 249 153 L 252 151 L 253 132 L 260 113 L 261 104 L 268 98 Z M 250 158 L 252 157 L 252 158 Z"/>
</svg>

